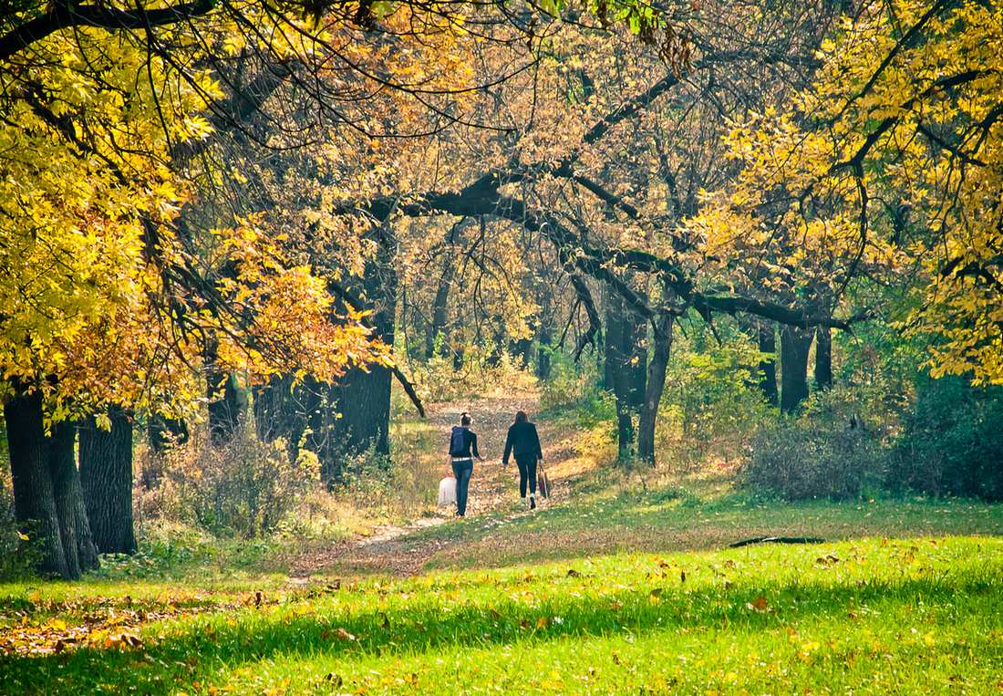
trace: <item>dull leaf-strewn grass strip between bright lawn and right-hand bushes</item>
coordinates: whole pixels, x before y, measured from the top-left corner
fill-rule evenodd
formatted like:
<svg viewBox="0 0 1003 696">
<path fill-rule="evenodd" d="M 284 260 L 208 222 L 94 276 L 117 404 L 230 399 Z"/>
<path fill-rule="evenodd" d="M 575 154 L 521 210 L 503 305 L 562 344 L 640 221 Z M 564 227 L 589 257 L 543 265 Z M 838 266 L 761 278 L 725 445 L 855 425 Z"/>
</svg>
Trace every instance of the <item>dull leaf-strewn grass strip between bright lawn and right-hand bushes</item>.
<svg viewBox="0 0 1003 696">
<path fill-rule="evenodd" d="M 1003 505 L 971 500 L 880 499 L 786 503 L 739 492 L 699 497 L 677 487 L 576 494 L 574 504 L 534 514 L 503 513 L 416 533 L 414 546 L 439 542 L 428 568 L 499 568 L 596 554 L 720 549 L 754 537 L 1003 535 Z"/>
</svg>

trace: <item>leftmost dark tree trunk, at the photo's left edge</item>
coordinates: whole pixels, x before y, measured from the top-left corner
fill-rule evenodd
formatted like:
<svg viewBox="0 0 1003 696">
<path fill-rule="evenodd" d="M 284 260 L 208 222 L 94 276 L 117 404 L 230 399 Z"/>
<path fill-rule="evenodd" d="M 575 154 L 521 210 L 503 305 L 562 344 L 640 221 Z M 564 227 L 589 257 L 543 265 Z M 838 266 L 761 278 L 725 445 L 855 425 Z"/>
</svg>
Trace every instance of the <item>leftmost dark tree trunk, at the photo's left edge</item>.
<svg viewBox="0 0 1003 696">
<path fill-rule="evenodd" d="M 14 516 L 22 533 L 41 539 L 39 570 L 71 579 L 66 560 L 48 461 L 48 447 L 42 422 L 42 395 L 23 393 L 15 386 L 14 396 L 4 404 L 10 473 L 14 489 Z"/>
</svg>

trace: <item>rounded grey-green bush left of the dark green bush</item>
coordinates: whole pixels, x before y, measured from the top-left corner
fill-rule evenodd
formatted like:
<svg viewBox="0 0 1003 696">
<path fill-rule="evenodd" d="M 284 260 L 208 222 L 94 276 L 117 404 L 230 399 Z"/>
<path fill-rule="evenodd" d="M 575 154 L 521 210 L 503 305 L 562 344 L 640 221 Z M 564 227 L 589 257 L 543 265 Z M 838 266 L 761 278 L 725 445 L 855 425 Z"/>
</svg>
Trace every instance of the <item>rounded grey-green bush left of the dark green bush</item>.
<svg viewBox="0 0 1003 696">
<path fill-rule="evenodd" d="M 804 413 L 763 426 L 743 469 L 746 485 L 787 500 L 860 497 L 887 468 L 882 433 L 863 422 L 851 390 L 814 396 Z"/>
</svg>

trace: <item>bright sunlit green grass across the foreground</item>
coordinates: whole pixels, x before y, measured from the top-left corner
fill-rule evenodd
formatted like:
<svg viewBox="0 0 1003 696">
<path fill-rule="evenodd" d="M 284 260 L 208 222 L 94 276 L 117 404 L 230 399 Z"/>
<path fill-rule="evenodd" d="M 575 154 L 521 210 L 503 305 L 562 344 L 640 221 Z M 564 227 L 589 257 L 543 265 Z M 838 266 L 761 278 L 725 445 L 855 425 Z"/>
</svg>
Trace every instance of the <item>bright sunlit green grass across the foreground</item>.
<svg viewBox="0 0 1003 696">
<path fill-rule="evenodd" d="M 1003 679 L 1003 541 L 861 540 L 370 579 L 152 623 L 141 639 L 132 650 L 0 658 L 0 689 L 989 693 Z"/>
</svg>

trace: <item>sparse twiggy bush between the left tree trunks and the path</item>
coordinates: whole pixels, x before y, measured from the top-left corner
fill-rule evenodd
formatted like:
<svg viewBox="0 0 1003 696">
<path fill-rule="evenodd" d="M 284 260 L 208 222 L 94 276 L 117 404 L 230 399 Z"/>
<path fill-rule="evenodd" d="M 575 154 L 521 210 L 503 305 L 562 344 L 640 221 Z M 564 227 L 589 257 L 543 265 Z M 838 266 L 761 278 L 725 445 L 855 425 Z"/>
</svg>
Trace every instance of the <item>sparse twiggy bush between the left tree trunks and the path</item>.
<svg viewBox="0 0 1003 696">
<path fill-rule="evenodd" d="M 155 465 L 153 458 L 147 465 Z M 299 498 L 320 484 L 312 453 L 290 462 L 283 440 L 267 444 L 248 432 L 225 447 L 194 442 L 172 450 L 160 465 L 159 485 L 140 490 L 140 518 L 179 520 L 244 539 L 277 530 Z"/>
</svg>

